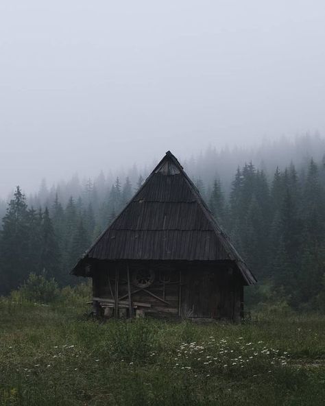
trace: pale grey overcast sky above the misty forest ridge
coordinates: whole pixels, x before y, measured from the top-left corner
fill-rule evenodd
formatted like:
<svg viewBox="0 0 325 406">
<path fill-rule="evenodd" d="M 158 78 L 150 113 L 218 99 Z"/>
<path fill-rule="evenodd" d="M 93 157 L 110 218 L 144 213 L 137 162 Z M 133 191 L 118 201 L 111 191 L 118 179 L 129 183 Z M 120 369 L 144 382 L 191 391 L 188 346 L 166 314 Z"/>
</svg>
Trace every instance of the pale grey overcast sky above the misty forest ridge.
<svg viewBox="0 0 325 406">
<path fill-rule="evenodd" d="M 325 134 L 324 0 L 0 0 L 0 195 Z"/>
</svg>

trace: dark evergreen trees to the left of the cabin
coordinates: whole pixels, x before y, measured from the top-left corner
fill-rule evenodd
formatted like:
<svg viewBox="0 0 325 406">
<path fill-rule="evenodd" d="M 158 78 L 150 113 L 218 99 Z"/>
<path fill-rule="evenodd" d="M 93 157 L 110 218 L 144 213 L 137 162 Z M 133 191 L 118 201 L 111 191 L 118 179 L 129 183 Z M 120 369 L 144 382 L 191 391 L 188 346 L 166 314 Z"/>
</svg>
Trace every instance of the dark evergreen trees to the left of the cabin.
<svg viewBox="0 0 325 406">
<path fill-rule="evenodd" d="M 142 182 L 142 178 L 139 179 Z M 89 181 L 82 196 L 58 199 L 45 208 L 28 207 L 17 187 L 3 217 L 0 238 L 0 294 L 8 294 L 30 273 L 55 278 L 60 285 L 76 283 L 69 271 L 132 197 L 130 180 L 119 178 L 99 204 L 97 188 Z"/>
</svg>

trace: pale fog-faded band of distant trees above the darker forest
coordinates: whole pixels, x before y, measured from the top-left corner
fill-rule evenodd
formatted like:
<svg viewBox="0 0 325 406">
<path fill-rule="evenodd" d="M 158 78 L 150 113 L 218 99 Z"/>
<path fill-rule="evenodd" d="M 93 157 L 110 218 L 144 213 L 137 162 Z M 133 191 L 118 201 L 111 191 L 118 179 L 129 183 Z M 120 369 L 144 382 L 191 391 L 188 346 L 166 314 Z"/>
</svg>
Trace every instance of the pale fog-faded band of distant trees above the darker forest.
<svg viewBox="0 0 325 406">
<path fill-rule="evenodd" d="M 184 166 L 186 173 L 191 179 L 200 179 L 206 184 L 207 189 L 215 178 L 222 181 L 222 187 L 226 195 L 229 195 L 232 186 L 234 169 L 239 165 L 243 167 L 247 162 L 254 162 L 258 169 L 263 169 L 267 176 L 273 176 L 275 168 L 285 170 L 289 162 L 294 162 L 296 168 L 306 167 L 314 158 L 316 162 L 322 160 L 325 151 L 325 139 L 318 134 L 297 136 L 296 139 L 282 137 L 278 141 L 263 141 L 254 148 L 232 147 L 221 150 L 215 147 L 207 147 L 206 150 L 197 153 L 192 157 L 178 156 Z M 172 151 L 173 152 L 173 151 Z M 124 184 L 126 178 L 130 180 L 133 188 L 139 182 L 139 178 L 146 178 L 152 168 L 158 163 L 161 156 L 153 158 L 147 165 L 128 165 L 119 170 L 99 171 L 91 179 L 82 178 L 78 174 L 66 180 L 60 180 L 56 184 L 47 184 L 45 179 L 40 182 L 36 193 L 26 195 L 29 206 L 45 207 L 51 206 L 56 196 L 62 206 L 66 206 L 71 196 L 77 200 L 80 196 L 84 202 L 88 201 L 89 187 L 96 195 L 97 206 L 101 206 L 108 198 L 108 193 L 117 176 Z M 121 158 L 121 161 L 123 159 Z M 14 191 L 12 191 L 13 195 Z M 3 198 L 3 196 L 1 196 Z M 0 218 L 5 214 L 6 202 L 0 197 Z M 11 196 L 10 196 L 11 198 Z M 95 208 L 94 208 L 95 210 Z M 1 228 L 1 224 L 0 224 Z"/>
</svg>

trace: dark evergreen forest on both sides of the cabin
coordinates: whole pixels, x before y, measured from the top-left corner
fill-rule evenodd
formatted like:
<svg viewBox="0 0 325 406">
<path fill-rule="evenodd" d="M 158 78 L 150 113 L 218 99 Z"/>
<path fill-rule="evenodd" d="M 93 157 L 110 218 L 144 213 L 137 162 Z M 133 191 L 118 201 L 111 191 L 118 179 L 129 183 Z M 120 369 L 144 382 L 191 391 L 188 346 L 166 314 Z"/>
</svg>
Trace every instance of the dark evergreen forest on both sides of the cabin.
<svg viewBox="0 0 325 406">
<path fill-rule="evenodd" d="M 291 163 L 267 178 L 252 163 L 237 169 L 230 193 L 219 178 L 195 181 L 211 211 L 258 278 L 256 302 L 265 287 L 291 307 L 325 307 L 325 160 Z M 0 239 L 1 294 L 34 272 L 60 285 L 76 283 L 69 271 L 141 184 L 129 178 L 103 189 L 88 180 L 67 202 L 45 195 L 43 208 L 27 206 L 18 187 L 3 217 Z M 33 202 L 33 200 L 32 200 Z"/>
</svg>

